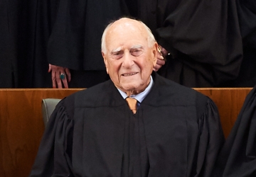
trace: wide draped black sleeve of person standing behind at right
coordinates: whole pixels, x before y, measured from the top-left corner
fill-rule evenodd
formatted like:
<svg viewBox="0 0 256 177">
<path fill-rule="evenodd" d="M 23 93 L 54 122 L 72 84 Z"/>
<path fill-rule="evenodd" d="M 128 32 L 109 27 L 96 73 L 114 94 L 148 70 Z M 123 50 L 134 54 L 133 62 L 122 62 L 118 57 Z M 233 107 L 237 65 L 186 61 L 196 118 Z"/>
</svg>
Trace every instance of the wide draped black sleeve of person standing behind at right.
<svg viewBox="0 0 256 177">
<path fill-rule="evenodd" d="M 156 35 L 172 59 L 203 75 L 212 86 L 235 79 L 242 62 L 235 1 L 179 1 L 175 9 L 163 2 L 158 5 L 162 23 Z"/>
</svg>

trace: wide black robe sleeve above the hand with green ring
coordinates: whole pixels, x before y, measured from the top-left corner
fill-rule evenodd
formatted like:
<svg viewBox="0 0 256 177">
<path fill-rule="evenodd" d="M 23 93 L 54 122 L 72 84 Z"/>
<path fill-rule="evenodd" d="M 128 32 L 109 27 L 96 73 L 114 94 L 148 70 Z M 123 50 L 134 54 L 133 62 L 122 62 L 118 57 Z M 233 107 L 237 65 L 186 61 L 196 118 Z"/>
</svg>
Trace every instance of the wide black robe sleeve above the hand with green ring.
<svg viewBox="0 0 256 177">
<path fill-rule="evenodd" d="M 120 1 L 60 1 L 48 43 L 48 62 L 74 70 L 105 70 L 101 37 L 110 21 L 126 14 Z"/>
</svg>

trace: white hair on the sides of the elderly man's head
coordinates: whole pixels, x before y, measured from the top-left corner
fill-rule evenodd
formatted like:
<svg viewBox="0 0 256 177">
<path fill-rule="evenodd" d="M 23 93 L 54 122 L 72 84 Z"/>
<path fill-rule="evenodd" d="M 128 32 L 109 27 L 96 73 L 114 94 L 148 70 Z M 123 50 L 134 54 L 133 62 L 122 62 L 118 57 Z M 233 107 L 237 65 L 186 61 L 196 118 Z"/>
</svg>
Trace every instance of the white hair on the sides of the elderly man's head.
<svg viewBox="0 0 256 177">
<path fill-rule="evenodd" d="M 120 18 L 122 19 L 122 18 Z M 132 18 L 131 18 L 132 19 Z M 115 21 L 114 21 L 115 22 Z M 107 27 L 105 28 L 103 34 L 102 34 L 102 43 L 101 43 L 101 48 L 102 48 L 102 52 L 104 54 L 107 53 L 107 48 L 106 48 L 106 35 L 107 35 L 107 30 L 110 28 L 110 26 L 114 23 L 110 23 L 109 25 L 107 25 Z M 151 33 L 151 30 L 149 29 L 149 27 L 147 27 L 142 21 L 139 21 L 140 23 L 142 23 L 142 25 L 144 26 L 144 28 L 146 29 L 146 32 L 148 33 L 148 37 L 147 37 L 147 42 L 148 42 L 148 47 L 153 47 L 154 43 L 156 42 L 154 35 Z"/>
</svg>

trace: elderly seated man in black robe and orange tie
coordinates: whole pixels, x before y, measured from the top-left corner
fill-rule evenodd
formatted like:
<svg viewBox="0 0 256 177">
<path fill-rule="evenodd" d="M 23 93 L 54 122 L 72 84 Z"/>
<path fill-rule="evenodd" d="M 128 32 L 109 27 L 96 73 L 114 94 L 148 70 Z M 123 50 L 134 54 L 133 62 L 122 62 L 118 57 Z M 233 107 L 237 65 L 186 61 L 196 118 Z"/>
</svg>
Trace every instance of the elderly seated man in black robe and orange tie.
<svg viewBox="0 0 256 177">
<path fill-rule="evenodd" d="M 218 110 L 153 72 L 157 55 L 144 23 L 108 25 L 102 56 L 111 80 L 58 103 L 31 176 L 210 176 L 223 142 Z"/>
</svg>

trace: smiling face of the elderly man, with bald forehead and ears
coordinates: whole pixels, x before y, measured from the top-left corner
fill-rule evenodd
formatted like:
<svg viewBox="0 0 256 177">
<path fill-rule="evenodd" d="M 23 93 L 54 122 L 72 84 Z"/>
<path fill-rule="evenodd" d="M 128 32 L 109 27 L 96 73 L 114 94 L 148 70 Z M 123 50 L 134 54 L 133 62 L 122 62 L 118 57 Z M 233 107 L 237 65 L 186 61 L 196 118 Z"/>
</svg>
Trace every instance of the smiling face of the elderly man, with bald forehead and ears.
<svg viewBox="0 0 256 177">
<path fill-rule="evenodd" d="M 138 21 L 116 21 L 106 35 L 106 54 L 102 53 L 114 85 L 127 95 L 137 94 L 148 86 L 156 64 L 156 47 L 148 45 L 148 33 Z"/>
</svg>

